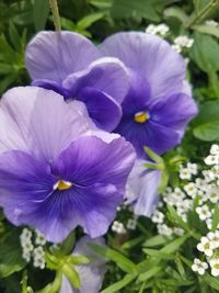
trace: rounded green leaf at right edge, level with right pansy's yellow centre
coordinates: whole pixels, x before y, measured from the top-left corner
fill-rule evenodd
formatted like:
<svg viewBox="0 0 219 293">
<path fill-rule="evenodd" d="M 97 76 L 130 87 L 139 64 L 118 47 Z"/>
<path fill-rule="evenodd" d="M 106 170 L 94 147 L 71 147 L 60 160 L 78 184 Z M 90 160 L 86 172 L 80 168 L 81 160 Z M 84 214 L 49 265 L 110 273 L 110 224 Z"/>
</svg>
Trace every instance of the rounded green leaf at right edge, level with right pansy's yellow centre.
<svg viewBox="0 0 219 293">
<path fill-rule="evenodd" d="M 194 135 L 205 142 L 219 138 L 219 101 L 206 102 L 200 105 L 199 114 L 194 120 Z"/>
</svg>

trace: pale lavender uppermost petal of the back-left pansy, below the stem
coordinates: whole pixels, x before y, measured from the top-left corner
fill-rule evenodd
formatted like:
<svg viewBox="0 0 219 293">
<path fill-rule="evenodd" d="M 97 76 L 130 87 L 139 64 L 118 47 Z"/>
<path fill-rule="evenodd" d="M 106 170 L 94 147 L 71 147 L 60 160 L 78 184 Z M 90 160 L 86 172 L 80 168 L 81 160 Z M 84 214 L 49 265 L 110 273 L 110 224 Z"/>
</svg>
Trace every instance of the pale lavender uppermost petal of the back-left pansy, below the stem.
<svg viewBox="0 0 219 293">
<path fill-rule="evenodd" d="M 27 45 L 26 68 L 32 79 L 61 82 L 68 75 L 83 70 L 97 59 L 97 48 L 72 32 L 39 32 Z"/>
</svg>

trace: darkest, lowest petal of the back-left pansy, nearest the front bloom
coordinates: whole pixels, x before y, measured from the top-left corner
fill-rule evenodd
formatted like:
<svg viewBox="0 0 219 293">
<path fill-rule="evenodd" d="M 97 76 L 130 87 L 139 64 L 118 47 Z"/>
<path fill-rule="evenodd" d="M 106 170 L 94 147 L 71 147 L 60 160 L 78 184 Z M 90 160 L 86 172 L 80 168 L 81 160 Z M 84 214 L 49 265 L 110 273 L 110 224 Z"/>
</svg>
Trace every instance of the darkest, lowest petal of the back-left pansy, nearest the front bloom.
<svg viewBox="0 0 219 293">
<path fill-rule="evenodd" d="M 120 105 L 110 95 L 94 88 L 83 88 L 78 94 L 97 127 L 112 132 L 118 125 L 122 117 Z"/>
</svg>

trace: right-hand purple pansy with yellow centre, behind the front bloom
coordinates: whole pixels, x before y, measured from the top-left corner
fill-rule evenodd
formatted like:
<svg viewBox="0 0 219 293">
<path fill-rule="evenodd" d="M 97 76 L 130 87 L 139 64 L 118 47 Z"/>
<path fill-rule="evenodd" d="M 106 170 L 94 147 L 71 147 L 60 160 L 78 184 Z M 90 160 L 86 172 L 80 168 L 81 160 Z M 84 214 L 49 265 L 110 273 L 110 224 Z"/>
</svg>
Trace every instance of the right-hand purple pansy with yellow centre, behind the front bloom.
<svg viewBox="0 0 219 293">
<path fill-rule="evenodd" d="M 116 132 L 132 143 L 139 157 L 146 155 L 145 145 L 158 154 L 176 146 L 197 113 L 182 56 L 161 37 L 138 32 L 110 36 L 100 49 L 119 58 L 131 79 Z"/>
</svg>

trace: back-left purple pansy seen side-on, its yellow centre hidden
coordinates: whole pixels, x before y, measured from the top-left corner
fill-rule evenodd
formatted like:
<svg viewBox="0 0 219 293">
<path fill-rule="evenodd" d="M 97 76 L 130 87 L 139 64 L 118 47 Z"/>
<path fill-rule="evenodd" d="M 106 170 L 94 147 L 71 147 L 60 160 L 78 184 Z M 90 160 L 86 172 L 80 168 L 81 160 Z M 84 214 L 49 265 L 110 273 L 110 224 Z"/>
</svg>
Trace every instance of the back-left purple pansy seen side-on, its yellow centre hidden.
<svg viewBox="0 0 219 293">
<path fill-rule="evenodd" d="M 122 61 L 103 58 L 87 37 L 72 32 L 38 33 L 26 48 L 25 60 L 34 86 L 82 101 L 100 128 L 111 132 L 118 125 L 120 103 L 129 89 Z"/>
</svg>

